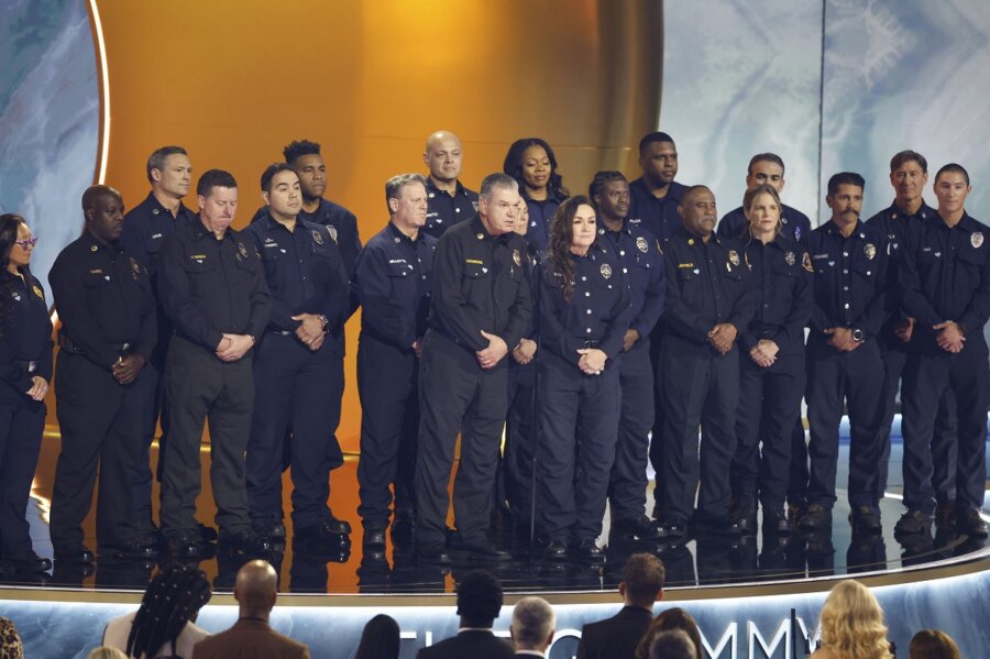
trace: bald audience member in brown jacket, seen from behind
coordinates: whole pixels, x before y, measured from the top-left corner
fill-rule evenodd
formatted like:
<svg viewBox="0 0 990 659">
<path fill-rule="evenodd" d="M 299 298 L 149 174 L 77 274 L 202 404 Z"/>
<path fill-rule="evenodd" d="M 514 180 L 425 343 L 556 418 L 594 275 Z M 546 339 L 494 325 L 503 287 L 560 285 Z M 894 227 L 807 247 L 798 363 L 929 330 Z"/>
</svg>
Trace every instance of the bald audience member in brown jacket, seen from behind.
<svg viewBox="0 0 990 659">
<path fill-rule="evenodd" d="M 308 659 L 309 648 L 278 634 L 268 624 L 278 600 L 278 575 L 267 561 L 250 561 L 238 572 L 234 600 L 238 622 L 227 631 L 206 638 L 193 648 L 194 659 L 279 657 Z"/>
</svg>

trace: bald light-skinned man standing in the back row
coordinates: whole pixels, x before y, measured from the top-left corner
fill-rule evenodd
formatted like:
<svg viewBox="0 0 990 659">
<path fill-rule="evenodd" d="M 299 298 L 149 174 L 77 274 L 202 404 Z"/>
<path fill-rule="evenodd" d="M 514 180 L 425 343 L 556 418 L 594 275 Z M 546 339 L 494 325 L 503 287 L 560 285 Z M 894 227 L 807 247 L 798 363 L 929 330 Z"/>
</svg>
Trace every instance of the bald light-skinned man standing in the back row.
<svg viewBox="0 0 990 659">
<path fill-rule="evenodd" d="M 443 232 L 477 213 L 477 193 L 469 190 L 461 175 L 461 141 L 450 131 L 427 138 L 422 162 L 430 168 L 427 179 L 427 223 L 424 232 L 440 238 Z"/>
</svg>

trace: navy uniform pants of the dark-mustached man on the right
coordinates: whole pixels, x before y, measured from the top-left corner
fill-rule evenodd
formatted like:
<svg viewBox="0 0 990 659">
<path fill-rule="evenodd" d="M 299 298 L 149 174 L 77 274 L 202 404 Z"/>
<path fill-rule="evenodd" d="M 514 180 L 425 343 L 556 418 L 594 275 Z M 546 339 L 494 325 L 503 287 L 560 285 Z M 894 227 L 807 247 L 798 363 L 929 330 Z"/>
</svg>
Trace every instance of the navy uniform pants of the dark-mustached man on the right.
<svg viewBox="0 0 990 659">
<path fill-rule="evenodd" d="M 840 352 L 821 337 L 807 342 L 807 422 L 811 429 L 807 501 L 832 508 L 838 465 L 843 404 L 849 414 L 849 503 L 876 506 L 883 420 L 883 359 L 880 344 L 868 340 Z"/>
</svg>

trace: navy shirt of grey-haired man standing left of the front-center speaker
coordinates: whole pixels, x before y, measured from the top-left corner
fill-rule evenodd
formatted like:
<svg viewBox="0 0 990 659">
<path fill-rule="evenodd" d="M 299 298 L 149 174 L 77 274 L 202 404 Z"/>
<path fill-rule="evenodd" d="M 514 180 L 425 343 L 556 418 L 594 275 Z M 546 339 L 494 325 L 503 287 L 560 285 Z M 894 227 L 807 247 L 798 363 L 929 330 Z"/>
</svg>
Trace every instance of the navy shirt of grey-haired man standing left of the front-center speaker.
<svg viewBox="0 0 990 659">
<path fill-rule="evenodd" d="M 416 240 L 388 222 L 358 256 L 361 331 L 411 352 L 426 333 L 437 239 L 422 231 Z"/>
</svg>

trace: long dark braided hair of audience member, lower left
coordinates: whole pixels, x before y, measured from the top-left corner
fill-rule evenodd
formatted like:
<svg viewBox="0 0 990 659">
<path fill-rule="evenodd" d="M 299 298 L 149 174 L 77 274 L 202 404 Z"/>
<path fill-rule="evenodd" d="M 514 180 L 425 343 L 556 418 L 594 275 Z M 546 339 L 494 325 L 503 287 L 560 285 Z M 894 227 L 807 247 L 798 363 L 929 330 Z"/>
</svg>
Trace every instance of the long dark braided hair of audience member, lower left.
<svg viewBox="0 0 990 659">
<path fill-rule="evenodd" d="M 210 582 L 195 568 L 174 563 L 155 574 L 128 636 L 128 657 L 152 657 L 166 642 L 175 641 L 186 623 L 210 601 Z"/>
</svg>

